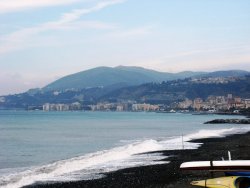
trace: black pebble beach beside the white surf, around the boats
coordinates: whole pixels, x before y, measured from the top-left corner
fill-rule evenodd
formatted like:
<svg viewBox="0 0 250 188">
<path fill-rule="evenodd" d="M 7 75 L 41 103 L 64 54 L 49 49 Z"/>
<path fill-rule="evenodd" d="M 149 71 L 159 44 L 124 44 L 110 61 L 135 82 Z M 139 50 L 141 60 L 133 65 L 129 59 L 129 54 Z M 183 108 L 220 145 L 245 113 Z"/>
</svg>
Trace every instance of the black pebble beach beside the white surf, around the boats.
<svg viewBox="0 0 250 188">
<path fill-rule="evenodd" d="M 192 180 L 211 178 L 207 171 L 181 171 L 184 161 L 221 160 L 231 151 L 232 159 L 250 160 L 250 133 L 232 135 L 226 138 L 195 140 L 204 143 L 197 150 L 162 151 L 169 164 L 129 168 L 106 174 L 105 178 L 89 181 L 37 184 L 28 188 L 191 188 Z M 214 173 L 214 177 L 223 173 Z"/>
</svg>

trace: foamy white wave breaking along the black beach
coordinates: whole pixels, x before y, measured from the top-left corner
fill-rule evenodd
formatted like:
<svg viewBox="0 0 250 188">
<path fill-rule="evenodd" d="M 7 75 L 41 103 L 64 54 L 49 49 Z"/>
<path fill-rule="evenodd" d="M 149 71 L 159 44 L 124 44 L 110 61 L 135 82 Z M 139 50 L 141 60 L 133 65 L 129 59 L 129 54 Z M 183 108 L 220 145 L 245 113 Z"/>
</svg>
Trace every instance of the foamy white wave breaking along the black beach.
<svg viewBox="0 0 250 188">
<path fill-rule="evenodd" d="M 224 137 L 250 131 L 250 127 L 221 130 L 200 130 L 183 137 L 160 140 L 137 140 L 124 146 L 61 160 L 22 172 L 8 173 L 0 177 L 1 188 L 23 187 L 36 182 L 77 181 L 103 177 L 103 173 L 119 169 L 168 163 L 161 150 L 197 149 L 202 143 L 194 139 Z M 124 142 L 124 141 L 123 141 Z M 164 159 L 164 160 L 163 160 Z"/>
</svg>

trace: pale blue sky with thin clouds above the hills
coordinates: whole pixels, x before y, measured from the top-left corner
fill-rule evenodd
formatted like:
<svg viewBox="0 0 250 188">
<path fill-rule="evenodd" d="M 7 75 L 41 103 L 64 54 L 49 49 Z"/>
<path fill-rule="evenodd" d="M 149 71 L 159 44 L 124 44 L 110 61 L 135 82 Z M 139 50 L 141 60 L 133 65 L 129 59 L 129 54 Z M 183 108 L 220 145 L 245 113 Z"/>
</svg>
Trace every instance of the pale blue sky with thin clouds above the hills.
<svg viewBox="0 0 250 188">
<path fill-rule="evenodd" d="M 249 0 L 0 0 L 0 95 L 98 66 L 250 71 Z"/>
</svg>

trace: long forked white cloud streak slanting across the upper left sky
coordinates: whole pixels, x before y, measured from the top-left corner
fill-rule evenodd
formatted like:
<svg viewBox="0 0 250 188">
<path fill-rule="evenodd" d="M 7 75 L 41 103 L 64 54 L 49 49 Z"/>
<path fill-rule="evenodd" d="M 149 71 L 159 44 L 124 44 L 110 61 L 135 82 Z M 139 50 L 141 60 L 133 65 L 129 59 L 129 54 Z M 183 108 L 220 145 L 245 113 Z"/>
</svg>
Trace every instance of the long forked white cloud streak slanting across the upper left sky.
<svg viewBox="0 0 250 188">
<path fill-rule="evenodd" d="M 13 0 L 14 1 L 14 0 Z M 110 0 L 102 1 L 97 3 L 91 8 L 84 9 L 75 9 L 69 13 L 64 13 L 59 20 L 43 23 L 37 26 L 24 28 L 18 31 L 15 31 L 11 34 L 0 37 L 0 54 L 14 51 L 17 49 L 30 47 L 31 43 L 28 44 L 28 40 L 32 36 L 37 35 L 41 32 L 49 30 L 58 30 L 58 29 L 68 29 L 68 28 L 94 28 L 94 29 L 110 29 L 115 27 L 111 24 L 106 24 L 97 21 L 82 21 L 78 22 L 81 16 L 90 14 L 92 12 L 99 11 L 108 6 L 122 3 L 124 0 Z"/>
</svg>

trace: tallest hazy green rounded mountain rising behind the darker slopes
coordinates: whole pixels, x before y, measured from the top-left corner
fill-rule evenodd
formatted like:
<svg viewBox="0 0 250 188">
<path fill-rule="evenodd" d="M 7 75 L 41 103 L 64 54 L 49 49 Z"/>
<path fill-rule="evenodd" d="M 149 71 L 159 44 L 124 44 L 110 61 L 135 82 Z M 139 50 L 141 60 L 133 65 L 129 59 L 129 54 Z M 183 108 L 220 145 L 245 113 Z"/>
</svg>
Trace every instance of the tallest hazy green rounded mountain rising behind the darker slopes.
<svg viewBox="0 0 250 188">
<path fill-rule="evenodd" d="M 66 90 L 66 89 L 85 89 L 92 87 L 111 87 L 115 86 L 133 86 L 143 83 L 156 82 L 160 83 L 167 80 L 183 79 L 201 75 L 201 72 L 180 72 L 165 73 L 158 72 L 141 67 L 97 67 L 94 69 L 71 74 L 56 80 L 43 89 L 49 90 Z"/>
</svg>

